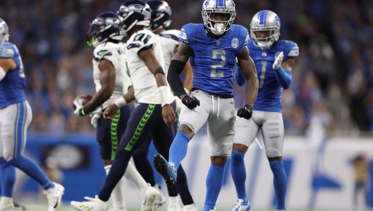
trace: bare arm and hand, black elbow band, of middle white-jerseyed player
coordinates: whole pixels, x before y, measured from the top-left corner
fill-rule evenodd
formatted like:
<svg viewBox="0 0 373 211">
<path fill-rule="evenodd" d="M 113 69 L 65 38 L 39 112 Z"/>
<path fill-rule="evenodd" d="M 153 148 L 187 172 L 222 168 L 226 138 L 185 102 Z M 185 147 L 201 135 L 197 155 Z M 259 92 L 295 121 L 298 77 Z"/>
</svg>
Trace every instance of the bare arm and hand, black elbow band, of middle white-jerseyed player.
<svg viewBox="0 0 373 211">
<path fill-rule="evenodd" d="M 165 86 L 168 88 L 165 72 L 163 72 L 161 65 L 155 57 L 153 49 L 150 48 L 142 50 L 138 53 L 138 56 L 144 61 L 150 72 L 155 74 L 154 77 L 157 81 L 158 87 Z M 171 105 L 167 104 L 162 107 L 162 117 L 167 127 L 171 127 L 172 124 L 176 121 L 176 115 Z"/>
</svg>

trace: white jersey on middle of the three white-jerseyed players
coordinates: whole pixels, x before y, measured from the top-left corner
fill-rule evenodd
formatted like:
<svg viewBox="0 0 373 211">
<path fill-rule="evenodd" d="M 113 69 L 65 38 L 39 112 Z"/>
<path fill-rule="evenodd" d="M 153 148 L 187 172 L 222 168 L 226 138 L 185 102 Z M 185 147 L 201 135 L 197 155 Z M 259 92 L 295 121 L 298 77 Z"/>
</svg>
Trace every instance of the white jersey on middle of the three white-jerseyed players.
<svg viewBox="0 0 373 211">
<path fill-rule="evenodd" d="M 158 37 L 149 30 L 134 33 L 127 41 L 127 65 L 135 91 L 135 98 L 139 103 L 161 104 L 158 85 L 153 73 L 145 65 L 138 53 L 152 48 L 162 68 L 165 66 L 162 46 Z"/>
</svg>

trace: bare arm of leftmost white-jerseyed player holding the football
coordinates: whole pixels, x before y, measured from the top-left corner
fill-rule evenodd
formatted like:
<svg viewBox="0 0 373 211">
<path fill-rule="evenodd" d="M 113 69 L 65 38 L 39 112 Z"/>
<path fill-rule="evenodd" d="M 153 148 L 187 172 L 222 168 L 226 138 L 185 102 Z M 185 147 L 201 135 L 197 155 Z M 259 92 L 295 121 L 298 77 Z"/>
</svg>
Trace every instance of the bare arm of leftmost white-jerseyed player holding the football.
<svg viewBox="0 0 373 211">
<path fill-rule="evenodd" d="M 111 62 L 102 59 L 99 63 L 101 89 L 84 105 L 84 113 L 90 113 L 107 101 L 114 91 L 115 69 Z"/>
</svg>

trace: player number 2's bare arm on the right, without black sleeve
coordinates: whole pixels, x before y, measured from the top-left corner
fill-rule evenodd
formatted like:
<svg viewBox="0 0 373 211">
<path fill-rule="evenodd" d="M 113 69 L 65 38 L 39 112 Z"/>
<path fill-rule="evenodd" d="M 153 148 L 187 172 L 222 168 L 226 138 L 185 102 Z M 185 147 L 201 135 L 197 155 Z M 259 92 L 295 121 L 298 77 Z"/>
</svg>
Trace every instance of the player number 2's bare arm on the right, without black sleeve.
<svg viewBox="0 0 373 211">
<path fill-rule="evenodd" d="M 244 47 L 240 54 L 237 56 L 238 63 L 241 66 L 242 73 L 244 74 L 246 84 L 246 105 L 252 109 L 258 95 L 259 81 L 256 73 L 255 64 L 249 55 L 248 47 Z"/>
</svg>

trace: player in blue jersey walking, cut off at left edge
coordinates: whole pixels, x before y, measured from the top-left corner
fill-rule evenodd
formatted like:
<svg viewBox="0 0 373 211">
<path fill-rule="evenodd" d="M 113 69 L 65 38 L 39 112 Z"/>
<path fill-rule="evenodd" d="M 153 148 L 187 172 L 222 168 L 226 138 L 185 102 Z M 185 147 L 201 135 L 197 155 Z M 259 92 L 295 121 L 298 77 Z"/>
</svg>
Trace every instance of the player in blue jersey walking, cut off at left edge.
<svg viewBox="0 0 373 211">
<path fill-rule="evenodd" d="M 54 211 L 61 205 L 64 188 L 51 182 L 34 161 L 23 155 L 32 111 L 24 94 L 25 75 L 20 52 L 8 40 L 8 25 L 0 19 L 0 210 L 14 211 L 14 167 L 17 167 L 41 185 L 48 199 L 48 210 Z"/>
</svg>

